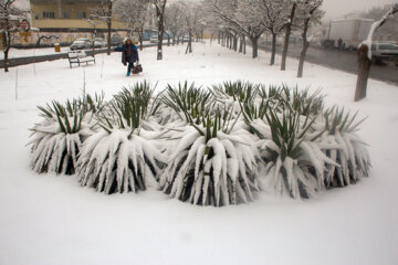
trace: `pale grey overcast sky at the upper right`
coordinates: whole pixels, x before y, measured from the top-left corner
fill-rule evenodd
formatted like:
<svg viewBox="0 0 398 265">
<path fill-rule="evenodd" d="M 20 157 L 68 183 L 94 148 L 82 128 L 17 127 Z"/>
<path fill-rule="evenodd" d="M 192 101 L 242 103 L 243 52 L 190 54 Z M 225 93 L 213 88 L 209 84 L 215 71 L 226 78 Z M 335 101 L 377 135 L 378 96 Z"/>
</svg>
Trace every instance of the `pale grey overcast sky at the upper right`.
<svg viewBox="0 0 398 265">
<path fill-rule="evenodd" d="M 398 0 L 324 0 L 323 10 L 327 19 L 343 17 L 353 11 L 366 11 L 373 7 L 398 2 Z"/>
</svg>

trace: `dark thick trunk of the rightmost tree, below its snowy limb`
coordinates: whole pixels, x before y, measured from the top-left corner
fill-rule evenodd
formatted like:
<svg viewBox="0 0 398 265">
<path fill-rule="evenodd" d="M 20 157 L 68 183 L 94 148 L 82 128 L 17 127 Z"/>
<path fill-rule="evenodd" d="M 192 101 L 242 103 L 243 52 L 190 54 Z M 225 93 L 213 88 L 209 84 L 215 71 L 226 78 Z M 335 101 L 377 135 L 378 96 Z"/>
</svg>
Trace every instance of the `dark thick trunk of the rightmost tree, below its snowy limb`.
<svg viewBox="0 0 398 265">
<path fill-rule="evenodd" d="M 367 81 L 370 72 L 370 60 L 367 57 L 368 46 L 362 44 L 358 49 L 358 78 L 354 100 L 358 102 L 366 97 Z"/>
</svg>

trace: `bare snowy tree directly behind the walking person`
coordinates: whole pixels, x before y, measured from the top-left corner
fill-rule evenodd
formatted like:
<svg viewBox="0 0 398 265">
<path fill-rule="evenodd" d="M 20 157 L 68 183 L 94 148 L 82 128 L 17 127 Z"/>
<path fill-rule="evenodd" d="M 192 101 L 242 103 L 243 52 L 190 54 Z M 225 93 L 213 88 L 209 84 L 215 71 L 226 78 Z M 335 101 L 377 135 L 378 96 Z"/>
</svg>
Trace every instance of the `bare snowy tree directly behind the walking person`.
<svg viewBox="0 0 398 265">
<path fill-rule="evenodd" d="M 138 33 L 139 50 L 143 50 L 144 28 L 148 19 L 150 0 L 118 0 L 115 3 L 117 18 Z"/>
</svg>

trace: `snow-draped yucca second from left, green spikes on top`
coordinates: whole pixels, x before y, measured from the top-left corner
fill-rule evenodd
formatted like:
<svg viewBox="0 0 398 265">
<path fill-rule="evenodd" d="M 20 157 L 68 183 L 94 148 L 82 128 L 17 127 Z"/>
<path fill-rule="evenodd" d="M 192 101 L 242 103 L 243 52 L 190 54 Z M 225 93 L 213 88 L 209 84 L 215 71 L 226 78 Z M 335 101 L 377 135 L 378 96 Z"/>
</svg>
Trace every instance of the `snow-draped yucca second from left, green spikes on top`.
<svg viewBox="0 0 398 265">
<path fill-rule="evenodd" d="M 82 186 L 109 194 L 156 184 L 164 158 L 143 128 L 153 93 L 148 83 L 137 83 L 114 97 L 106 115 L 98 115 L 102 129 L 84 142 L 77 161 Z"/>
</svg>

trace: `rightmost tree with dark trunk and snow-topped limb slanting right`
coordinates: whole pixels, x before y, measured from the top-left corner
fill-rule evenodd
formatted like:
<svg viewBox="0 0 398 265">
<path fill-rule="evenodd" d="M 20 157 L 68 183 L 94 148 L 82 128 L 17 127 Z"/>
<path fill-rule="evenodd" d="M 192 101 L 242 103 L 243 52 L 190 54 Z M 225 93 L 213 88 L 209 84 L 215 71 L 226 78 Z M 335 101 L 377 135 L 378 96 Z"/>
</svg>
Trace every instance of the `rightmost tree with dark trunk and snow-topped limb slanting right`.
<svg viewBox="0 0 398 265">
<path fill-rule="evenodd" d="M 371 24 L 367 40 L 365 40 L 358 47 L 358 77 L 355 89 L 354 100 L 358 102 L 366 97 L 367 81 L 370 72 L 371 63 L 371 40 L 376 30 L 386 23 L 395 13 L 398 13 L 398 2 L 395 3 L 381 19 Z"/>
</svg>

